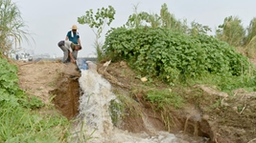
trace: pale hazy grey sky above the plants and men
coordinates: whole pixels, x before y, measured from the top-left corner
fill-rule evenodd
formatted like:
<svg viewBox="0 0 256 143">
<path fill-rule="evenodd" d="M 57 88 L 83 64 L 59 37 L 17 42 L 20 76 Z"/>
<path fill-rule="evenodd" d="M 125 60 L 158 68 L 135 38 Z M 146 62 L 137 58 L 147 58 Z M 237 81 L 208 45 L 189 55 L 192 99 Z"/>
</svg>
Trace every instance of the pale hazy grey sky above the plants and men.
<svg viewBox="0 0 256 143">
<path fill-rule="evenodd" d="M 177 19 L 187 19 L 190 23 L 209 26 L 215 31 L 225 17 L 233 15 L 242 19 L 244 28 L 256 17 L 255 0 L 12 0 L 16 3 L 30 32 L 30 44 L 21 43 L 25 51 L 35 54 L 62 56 L 58 41 L 64 40 L 72 25 L 77 25 L 81 36 L 79 57 L 86 57 L 96 50 L 93 47 L 95 34 L 87 25 L 77 22 L 86 10 L 112 6 L 116 10 L 115 20 L 110 27 L 123 26 L 128 16 L 133 13 L 133 6 L 138 4 L 138 12 L 147 11 L 159 14 L 166 3 Z M 105 27 L 105 31 L 109 28 Z M 103 33 L 105 34 L 105 33 Z M 104 39 L 102 39 L 104 42 Z"/>
</svg>

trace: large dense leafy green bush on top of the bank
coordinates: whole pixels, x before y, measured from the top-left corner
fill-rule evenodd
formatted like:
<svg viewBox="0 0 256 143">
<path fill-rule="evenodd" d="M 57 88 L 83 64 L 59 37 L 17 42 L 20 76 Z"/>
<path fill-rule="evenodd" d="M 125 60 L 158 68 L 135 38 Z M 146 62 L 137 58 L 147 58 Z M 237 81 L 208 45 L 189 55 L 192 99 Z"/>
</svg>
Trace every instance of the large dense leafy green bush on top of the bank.
<svg viewBox="0 0 256 143">
<path fill-rule="evenodd" d="M 231 77 L 254 72 L 246 57 L 204 34 L 118 28 L 106 36 L 104 50 L 113 60 L 125 59 L 137 72 L 169 83 L 197 79 L 207 73 Z"/>
</svg>

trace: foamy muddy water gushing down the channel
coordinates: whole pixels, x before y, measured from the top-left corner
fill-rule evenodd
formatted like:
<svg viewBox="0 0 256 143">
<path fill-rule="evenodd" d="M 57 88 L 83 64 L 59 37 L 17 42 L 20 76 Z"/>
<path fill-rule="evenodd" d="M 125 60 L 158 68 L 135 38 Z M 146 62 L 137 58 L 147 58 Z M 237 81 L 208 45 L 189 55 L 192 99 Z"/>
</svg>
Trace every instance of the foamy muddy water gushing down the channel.
<svg viewBox="0 0 256 143">
<path fill-rule="evenodd" d="M 155 135 L 147 133 L 128 133 L 113 126 L 108 112 L 108 106 L 115 94 L 111 92 L 111 85 L 96 72 L 96 65 L 88 63 L 89 70 L 81 71 L 79 79 L 83 94 L 80 98 L 79 122 L 73 129 L 71 142 L 89 143 L 189 143 L 202 142 L 186 141 L 175 134 L 157 132 Z M 150 125 L 149 125 L 150 126 Z"/>
</svg>

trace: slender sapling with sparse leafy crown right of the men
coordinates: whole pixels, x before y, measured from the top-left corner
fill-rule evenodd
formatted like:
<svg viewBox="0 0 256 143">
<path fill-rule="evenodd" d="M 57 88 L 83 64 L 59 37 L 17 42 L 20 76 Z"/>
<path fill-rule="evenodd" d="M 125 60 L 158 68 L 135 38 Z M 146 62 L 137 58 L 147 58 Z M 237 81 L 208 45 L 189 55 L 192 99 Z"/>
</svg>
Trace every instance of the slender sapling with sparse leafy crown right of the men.
<svg viewBox="0 0 256 143">
<path fill-rule="evenodd" d="M 102 59 L 103 51 L 102 44 L 100 43 L 101 34 L 105 28 L 105 25 L 109 26 L 114 20 L 115 10 L 112 6 L 108 6 L 108 8 L 98 9 L 94 14 L 93 10 L 86 10 L 85 15 L 78 17 L 78 22 L 81 25 L 88 25 L 91 30 L 95 33 L 95 48 L 98 55 L 98 60 Z M 95 31 L 95 29 L 97 31 Z"/>
</svg>

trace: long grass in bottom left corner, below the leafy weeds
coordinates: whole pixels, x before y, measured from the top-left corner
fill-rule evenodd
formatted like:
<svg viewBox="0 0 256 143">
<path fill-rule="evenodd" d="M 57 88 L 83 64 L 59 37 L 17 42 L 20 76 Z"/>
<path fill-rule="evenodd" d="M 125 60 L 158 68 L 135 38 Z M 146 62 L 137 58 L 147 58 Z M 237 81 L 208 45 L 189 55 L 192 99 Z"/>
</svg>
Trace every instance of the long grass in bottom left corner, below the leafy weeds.
<svg viewBox="0 0 256 143">
<path fill-rule="evenodd" d="M 0 110 L 0 142 L 65 142 L 68 124 L 60 115 L 42 116 L 5 104 Z"/>
</svg>

